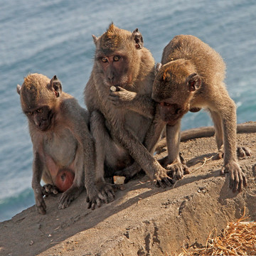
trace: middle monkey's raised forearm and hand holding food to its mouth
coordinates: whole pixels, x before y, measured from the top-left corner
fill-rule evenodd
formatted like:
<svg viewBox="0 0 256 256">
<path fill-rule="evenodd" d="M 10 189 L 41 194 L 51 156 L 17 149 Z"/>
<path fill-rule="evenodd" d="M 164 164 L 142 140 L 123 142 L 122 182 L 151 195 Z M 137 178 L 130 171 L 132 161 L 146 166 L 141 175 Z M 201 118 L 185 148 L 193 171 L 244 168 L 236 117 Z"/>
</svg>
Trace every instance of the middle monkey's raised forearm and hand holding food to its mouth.
<svg viewBox="0 0 256 256">
<path fill-rule="evenodd" d="M 156 102 L 148 95 L 139 95 L 117 87 L 116 91 L 110 90 L 109 100 L 115 107 L 124 107 L 151 119 L 154 117 Z"/>
</svg>

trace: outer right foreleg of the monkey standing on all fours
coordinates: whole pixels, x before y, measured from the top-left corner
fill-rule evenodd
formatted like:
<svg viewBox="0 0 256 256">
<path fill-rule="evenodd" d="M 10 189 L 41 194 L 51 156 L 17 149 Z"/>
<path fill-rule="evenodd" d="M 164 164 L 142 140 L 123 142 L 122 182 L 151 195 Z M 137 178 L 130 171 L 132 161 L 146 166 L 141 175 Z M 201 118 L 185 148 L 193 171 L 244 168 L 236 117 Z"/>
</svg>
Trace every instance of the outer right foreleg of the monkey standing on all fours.
<svg viewBox="0 0 256 256">
<path fill-rule="evenodd" d="M 222 115 L 224 134 L 224 166 L 220 174 L 230 174 L 230 188 L 233 189 L 233 192 L 240 192 L 242 186 L 247 186 L 247 181 L 236 156 L 235 102 L 230 99 L 228 92 L 222 91 L 220 93 L 223 94 L 223 99 L 225 99 L 225 105 L 218 110 Z"/>
</svg>

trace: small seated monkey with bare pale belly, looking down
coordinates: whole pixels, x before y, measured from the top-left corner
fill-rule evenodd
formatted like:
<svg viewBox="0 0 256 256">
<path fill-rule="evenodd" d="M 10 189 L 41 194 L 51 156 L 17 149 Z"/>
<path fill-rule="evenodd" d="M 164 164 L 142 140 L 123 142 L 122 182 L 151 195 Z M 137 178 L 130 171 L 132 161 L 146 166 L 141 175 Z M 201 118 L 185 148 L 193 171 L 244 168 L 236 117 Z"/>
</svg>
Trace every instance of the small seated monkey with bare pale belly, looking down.
<svg viewBox="0 0 256 256">
<path fill-rule="evenodd" d="M 46 213 L 44 195 L 63 192 L 58 208 L 66 208 L 84 186 L 92 208 L 99 205 L 104 198 L 94 183 L 88 113 L 62 91 L 56 76 L 50 80 L 41 74 L 28 75 L 22 86 L 17 85 L 17 92 L 33 143 L 32 188 L 38 212 Z M 43 187 L 41 178 L 46 182 Z"/>
</svg>

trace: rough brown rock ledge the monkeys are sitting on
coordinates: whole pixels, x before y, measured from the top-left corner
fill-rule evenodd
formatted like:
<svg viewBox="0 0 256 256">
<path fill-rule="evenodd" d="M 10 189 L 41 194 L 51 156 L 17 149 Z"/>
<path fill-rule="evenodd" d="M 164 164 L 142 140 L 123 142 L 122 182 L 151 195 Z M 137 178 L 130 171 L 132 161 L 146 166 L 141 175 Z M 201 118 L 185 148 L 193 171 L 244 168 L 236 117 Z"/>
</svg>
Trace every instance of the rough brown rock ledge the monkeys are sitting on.
<svg viewBox="0 0 256 256">
<path fill-rule="evenodd" d="M 214 137 L 191 139 L 181 143 L 191 174 L 171 188 L 155 188 L 139 174 L 93 211 L 85 192 L 64 210 L 60 195 L 48 196 L 46 215 L 33 206 L 0 223 L 0 255 L 174 255 L 183 245 L 205 245 L 213 228 L 220 233 L 244 207 L 256 220 L 256 131 L 238 134 L 238 146 L 252 151 L 239 160 L 248 182 L 241 193 L 219 175 L 222 159 L 207 160 L 216 153 Z"/>
</svg>

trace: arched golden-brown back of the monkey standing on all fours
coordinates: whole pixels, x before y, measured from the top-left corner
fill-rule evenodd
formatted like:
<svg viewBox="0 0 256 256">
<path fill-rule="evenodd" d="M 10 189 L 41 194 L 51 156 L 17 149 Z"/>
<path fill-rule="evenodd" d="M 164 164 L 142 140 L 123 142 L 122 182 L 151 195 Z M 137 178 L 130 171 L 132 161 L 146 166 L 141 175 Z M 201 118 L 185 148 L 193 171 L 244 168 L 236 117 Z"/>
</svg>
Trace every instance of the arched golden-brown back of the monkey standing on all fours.
<svg viewBox="0 0 256 256">
<path fill-rule="evenodd" d="M 196 36 L 175 36 L 164 48 L 161 63 L 164 65 L 177 59 L 191 60 L 204 82 L 225 79 L 225 63 L 220 54 Z M 207 74 L 207 75 L 205 75 Z M 207 81 L 207 80 L 211 81 Z"/>
</svg>

